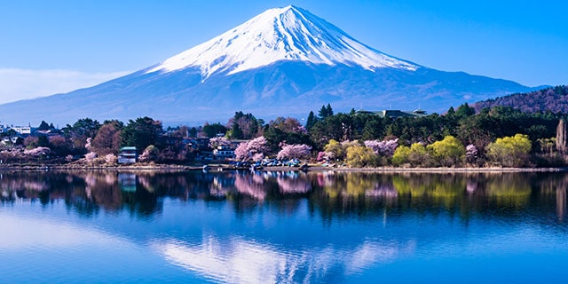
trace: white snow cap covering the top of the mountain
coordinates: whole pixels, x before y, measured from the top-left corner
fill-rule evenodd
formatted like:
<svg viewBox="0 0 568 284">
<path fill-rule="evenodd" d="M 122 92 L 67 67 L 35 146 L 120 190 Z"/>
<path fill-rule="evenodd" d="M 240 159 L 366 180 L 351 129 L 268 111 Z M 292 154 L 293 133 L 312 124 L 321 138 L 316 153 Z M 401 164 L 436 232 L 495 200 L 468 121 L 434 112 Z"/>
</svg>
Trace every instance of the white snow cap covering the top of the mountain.
<svg viewBox="0 0 568 284">
<path fill-rule="evenodd" d="M 235 74 L 280 60 L 359 65 L 369 70 L 418 66 L 375 51 L 340 28 L 296 6 L 267 10 L 221 36 L 166 59 L 150 69 L 170 72 L 200 67 L 201 75 Z"/>
</svg>

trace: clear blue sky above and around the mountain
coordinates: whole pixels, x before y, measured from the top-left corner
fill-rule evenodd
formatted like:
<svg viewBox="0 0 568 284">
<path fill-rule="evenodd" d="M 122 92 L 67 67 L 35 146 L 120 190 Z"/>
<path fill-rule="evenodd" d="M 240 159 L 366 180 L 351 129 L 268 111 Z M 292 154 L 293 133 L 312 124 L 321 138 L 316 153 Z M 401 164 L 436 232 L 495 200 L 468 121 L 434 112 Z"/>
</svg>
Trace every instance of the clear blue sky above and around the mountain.
<svg viewBox="0 0 568 284">
<path fill-rule="evenodd" d="M 568 1 L 1 0 L 0 103 L 152 66 L 288 4 L 424 67 L 568 84 Z"/>
</svg>

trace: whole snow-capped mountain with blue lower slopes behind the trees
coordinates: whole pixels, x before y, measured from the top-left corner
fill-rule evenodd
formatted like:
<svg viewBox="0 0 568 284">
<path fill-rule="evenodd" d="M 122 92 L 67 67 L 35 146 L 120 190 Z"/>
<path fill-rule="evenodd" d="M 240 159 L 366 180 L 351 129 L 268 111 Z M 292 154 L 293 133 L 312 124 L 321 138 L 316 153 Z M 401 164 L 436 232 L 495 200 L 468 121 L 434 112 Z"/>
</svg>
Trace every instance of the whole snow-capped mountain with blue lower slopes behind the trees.
<svg viewBox="0 0 568 284">
<path fill-rule="evenodd" d="M 335 110 L 449 106 L 532 91 L 422 67 L 377 51 L 296 6 L 270 9 L 162 63 L 91 88 L 0 105 L 4 122 L 226 121 L 235 111 L 304 117 Z"/>
</svg>

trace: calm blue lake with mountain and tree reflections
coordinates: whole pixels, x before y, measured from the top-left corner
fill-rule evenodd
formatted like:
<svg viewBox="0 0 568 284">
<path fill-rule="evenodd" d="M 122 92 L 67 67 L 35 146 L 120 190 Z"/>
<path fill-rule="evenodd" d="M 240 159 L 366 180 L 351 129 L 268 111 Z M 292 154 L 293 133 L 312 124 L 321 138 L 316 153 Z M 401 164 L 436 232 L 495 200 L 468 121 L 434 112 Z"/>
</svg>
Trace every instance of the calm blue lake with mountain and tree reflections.
<svg viewBox="0 0 568 284">
<path fill-rule="evenodd" d="M 566 283 L 568 174 L 0 172 L 3 283 Z"/>
</svg>

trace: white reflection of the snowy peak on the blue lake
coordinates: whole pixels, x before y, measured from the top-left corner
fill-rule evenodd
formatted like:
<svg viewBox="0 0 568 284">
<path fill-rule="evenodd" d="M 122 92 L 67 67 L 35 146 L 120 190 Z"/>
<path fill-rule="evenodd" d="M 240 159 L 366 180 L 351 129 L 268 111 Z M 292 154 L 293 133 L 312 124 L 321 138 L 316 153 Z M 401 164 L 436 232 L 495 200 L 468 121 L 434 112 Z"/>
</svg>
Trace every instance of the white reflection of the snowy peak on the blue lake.
<svg viewBox="0 0 568 284">
<path fill-rule="evenodd" d="M 389 263 L 414 250 L 413 242 L 393 245 L 364 241 L 349 249 L 328 245 L 283 251 L 271 244 L 215 237 L 195 244 L 169 240 L 151 246 L 170 263 L 225 283 L 319 282 Z"/>
</svg>

